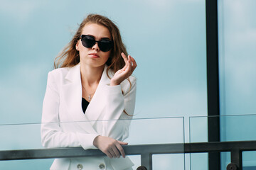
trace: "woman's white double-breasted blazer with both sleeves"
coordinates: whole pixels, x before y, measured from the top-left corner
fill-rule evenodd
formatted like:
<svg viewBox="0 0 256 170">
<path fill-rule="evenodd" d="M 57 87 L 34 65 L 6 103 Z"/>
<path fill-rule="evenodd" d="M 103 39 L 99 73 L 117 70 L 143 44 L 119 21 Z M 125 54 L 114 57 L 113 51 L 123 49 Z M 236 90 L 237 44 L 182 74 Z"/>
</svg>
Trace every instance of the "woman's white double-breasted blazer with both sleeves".
<svg viewBox="0 0 256 170">
<path fill-rule="evenodd" d="M 112 73 L 109 73 L 110 77 Z M 83 147 L 96 149 L 97 135 L 125 140 L 134 113 L 136 78 L 129 77 L 119 86 L 110 86 L 107 66 L 85 113 L 82 111 L 80 64 L 54 69 L 48 73 L 43 100 L 41 141 L 43 147 Z M 117 121 L 118 120 L 118 121 Z M 128 169 L 134 164 L 128 157 L 82 157 L 55 159 L 50 169 Z"/>
</svg>

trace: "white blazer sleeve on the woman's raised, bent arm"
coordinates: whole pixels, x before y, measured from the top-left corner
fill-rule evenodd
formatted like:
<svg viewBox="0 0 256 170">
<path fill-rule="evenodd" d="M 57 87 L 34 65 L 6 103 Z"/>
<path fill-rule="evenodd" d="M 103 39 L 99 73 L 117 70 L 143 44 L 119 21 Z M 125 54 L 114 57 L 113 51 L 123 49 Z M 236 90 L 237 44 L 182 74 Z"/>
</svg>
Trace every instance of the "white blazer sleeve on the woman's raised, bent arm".
<svg viewBox="0 0 256 170">
<path fill-rule="evenodd" d="M 107 106 L 103 121 L 102 135 L 116 140 L 129 136 L 129 125 L 134 114 L 137 80 L 129 77 L 121 85 L 107 85 Z"/>
</svg>

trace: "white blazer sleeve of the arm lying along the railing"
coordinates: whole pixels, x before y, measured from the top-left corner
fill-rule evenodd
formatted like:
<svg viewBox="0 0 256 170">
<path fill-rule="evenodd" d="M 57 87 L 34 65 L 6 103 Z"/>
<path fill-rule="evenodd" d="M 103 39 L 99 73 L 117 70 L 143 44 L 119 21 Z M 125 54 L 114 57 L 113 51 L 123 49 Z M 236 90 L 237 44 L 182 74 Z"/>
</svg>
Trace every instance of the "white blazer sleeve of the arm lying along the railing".
<svg viewBox="0 0 256 170">
<path fill-rule="evenodd" d="M 95 149 L 93 140 L 97 134 L 79 132 L 63 132 L 59 121 L 60 77 L 48 73 L 46 94 L 43 99 L 43 113 L 41 121 L 41 142 L 43 147 L 83 147 Z M 57 83 L 58 82 L 58 83 Z"/>
</svg>

